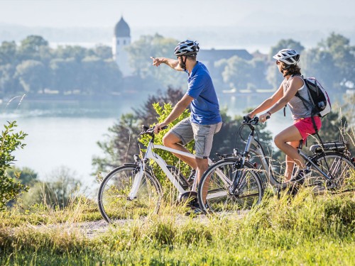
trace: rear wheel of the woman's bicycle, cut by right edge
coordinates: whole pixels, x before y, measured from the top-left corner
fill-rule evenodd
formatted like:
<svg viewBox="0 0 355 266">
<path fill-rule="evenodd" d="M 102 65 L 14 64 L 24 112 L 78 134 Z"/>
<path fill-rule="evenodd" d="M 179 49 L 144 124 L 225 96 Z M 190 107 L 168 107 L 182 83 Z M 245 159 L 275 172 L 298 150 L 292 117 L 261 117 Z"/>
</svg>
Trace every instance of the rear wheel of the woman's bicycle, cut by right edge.
<svg viewBox="0 0 355 266">
<path fill-rule="evenodd" d="M 313 159 L 317 166 L 326 173 L 334 184 L 330 187 L 335 192 L 347 192 L 355 189 L 355 166 L 351 159 L 343 153 L 327 152 L 325 155 L 316 155 Z M 311 166 L 312 171 L 310 185 L 317 184 L 317 190 L 322 192 L 329 188 L 329 182 L 315 167 Z"/>
</svg>

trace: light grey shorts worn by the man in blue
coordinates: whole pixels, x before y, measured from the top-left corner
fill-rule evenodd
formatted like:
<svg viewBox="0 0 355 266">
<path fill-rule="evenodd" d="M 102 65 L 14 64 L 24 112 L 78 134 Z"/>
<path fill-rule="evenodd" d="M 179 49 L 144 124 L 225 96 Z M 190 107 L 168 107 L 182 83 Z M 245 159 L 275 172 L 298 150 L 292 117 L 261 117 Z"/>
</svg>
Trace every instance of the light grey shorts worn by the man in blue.
<svg viewBox="0 0 355 266">
<path fill-rule="evenodd" d="M 199 125 L 191 123 L 190 117 L 177 123 L 168 133 L 173 133 L 180 138 L 182 145 L 195 139 L 195 156 L 206 159 L 211 153 L 213 135 L 221 130 L 222 122 L 213 125 Z"/>
</svg>

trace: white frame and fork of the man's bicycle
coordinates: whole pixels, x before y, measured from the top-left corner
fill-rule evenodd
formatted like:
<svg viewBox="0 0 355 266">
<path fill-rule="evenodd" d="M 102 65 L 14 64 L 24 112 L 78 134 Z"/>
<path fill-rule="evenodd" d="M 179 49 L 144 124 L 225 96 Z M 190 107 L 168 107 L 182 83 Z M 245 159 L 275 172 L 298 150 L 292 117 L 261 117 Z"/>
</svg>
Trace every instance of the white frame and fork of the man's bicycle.
<svg viewBox="0 0 355 266">
<path fill-rule="evenodd" d="M 159 165 L 159 167 L 161 168 L 161 170 L 163 170 L 163 172 L 168 177 L 170 182 L 172 182 L 173 186 L 176 187 L 176 189 L 178 189 L 178 191 L 181 194 L 187 192 L 187 190 L 185 190 L 181 187 L 181 185 L 178 182 L 178 179 L 176 179 L 174 177 L 174 175 L 170 172 L 170 170 L 168 170 L 168 167 L 167 167 L 168 164 L 165 162 L 165 160 L 162 157 L 160 157 L 158 154 L 154 153 L 153 150 L 155 150 L 155 149 L 166 150 L 170 153 L 176 153 L 176 154 L 183 155 L 186 157 L 196 158 L 195 155 L 193 155 L 192 153 L 186 153 L 181 150 L 175 150 L 173 148 L 168 148 L 163 145 L 154 145 L 152 140 L 150 140 L 148 143 L 146 154 L 144 155 L 143 160 L 141 161 L 140 170 L 139 170 L 139 172 L 137 172 L 137 174 L 134 178 L 131 192 L 129 193 L 129 199 L 131 199 L 131 200 L 135 198 L 135 196 L 138 192 L 139 184 L 141 184 L 141 179 L 143 178 L 144 170 L 146 169 L 146 162 L 148 160 L 153 160 L 154 162 L 156 162 Z M 209 165 L 212 164 L 212 160 L 209 158 L 208 158 L 208 163 L 209 163 Z M 192 184 L 192 191 L 196 192 L 196 189 L 197 189 L 197 178 L 195 178 L 194 183 Z"/>
</svg>

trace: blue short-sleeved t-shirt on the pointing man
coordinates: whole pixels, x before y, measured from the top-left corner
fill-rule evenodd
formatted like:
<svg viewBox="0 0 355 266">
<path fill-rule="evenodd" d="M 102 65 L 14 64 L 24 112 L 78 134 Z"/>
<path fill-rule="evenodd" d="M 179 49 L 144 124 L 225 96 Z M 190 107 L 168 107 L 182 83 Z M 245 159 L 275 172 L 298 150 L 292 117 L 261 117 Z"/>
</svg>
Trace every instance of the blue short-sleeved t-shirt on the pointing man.
<svg viewBox="0 0 355 266">
<path fill-rule="evenodd" d="M 212 125 L 222 122 L 216 91 L 207 67 L 198 62 L 193 68 L 186 94 L 193 98 L 191 102 L 191 121 L 200 125 Z"/>
</svg>

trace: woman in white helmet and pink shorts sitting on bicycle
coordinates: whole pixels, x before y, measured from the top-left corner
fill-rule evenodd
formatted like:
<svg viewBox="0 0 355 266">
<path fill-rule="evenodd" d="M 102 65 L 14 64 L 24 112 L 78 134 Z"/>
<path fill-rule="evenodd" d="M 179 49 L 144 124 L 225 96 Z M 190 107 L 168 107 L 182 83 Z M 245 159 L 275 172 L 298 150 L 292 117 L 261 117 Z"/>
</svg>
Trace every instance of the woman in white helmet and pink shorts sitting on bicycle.
<svg viewBox="0 0 355 266">
<path fill-rule="evenodd" d="M 305 106 L 303 101 L 296 96 L 298 92 L 302 98 L 310 101 L 307 86 L 302 79 L 300 67 L 297 65 L 300 61 L 300 54 L 293 49 L 283 49 L 273 58 L 285 79 L 273 96 L 248 113 L 248 116 L 253 118 L 256 113 L 268 110 L 259 116 L 260 121 L 265 122 L 267 118 L 282 109 L 286 104 L 290 107 L 293 126 L 289 126 L 278 133 L 274 141 L 275 145 L 286 155 L 285 181 L 302 182 L 310 174 L 310 170 L 306 169 L 305 160 L 298 154 L 297 146 L 300 144 L 300 140 L 305 141 L 308 135 L 316 133 L 315 126 L 319 130 L 322 122 L 319 116 L 312 118 L 312 108 L 308 108 L 312 106 Z M 300 171 L 291 179 L 295 163 L 300 167 Z"/>
</svg>

